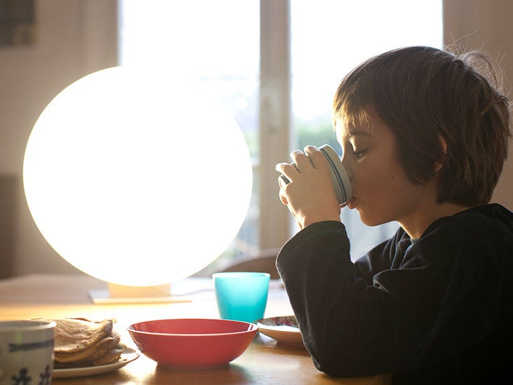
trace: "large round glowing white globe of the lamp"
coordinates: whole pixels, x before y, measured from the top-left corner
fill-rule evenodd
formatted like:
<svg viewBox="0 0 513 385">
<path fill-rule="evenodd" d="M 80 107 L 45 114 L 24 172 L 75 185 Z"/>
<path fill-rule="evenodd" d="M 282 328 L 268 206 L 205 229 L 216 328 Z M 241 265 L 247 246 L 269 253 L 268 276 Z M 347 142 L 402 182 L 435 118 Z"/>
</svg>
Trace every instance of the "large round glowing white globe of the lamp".
<svg viewBox="0 0 513 385">
<path fill-rule="evenodd" d="M 23 163 L 46 241 L 117 285 L 178 281 L 230 245 L 245 219 L 252 164 L 215 97 L 172 70 L 113 67 L 43 110 Z"/>
</svg>

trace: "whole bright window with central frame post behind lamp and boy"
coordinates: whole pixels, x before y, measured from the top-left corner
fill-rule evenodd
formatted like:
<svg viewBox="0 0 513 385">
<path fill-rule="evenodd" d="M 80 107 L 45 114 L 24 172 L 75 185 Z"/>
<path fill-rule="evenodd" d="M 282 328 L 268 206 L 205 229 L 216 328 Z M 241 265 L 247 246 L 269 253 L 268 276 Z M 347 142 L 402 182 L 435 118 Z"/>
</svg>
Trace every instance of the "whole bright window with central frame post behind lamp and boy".
<svg viewBox="0 0 513 385">
<path fill-rule="evenodd" d="M 186 64 L 214 88 L 245 133 L 254 198 L 226 252 L 235 255 L 279 247 L 295 231 L 276 203 L 274 164 L 306 144 L 339 149 L 329 111 L 338 82 L 385 50 L 442 46 L 442 0 L 120 0 L 120 36 L 121 64 Z M 397 228 L 367 228 L 350 210 L 343 210 L 343 220 L 353 259 Z"/>
</svg>

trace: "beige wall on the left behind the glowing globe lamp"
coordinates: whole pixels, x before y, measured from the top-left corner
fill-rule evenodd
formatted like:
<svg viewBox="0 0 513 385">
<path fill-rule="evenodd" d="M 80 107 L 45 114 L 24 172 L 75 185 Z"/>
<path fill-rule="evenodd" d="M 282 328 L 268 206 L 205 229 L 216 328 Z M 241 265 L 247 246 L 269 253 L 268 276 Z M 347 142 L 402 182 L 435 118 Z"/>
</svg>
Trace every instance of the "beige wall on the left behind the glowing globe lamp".
<svg viewBox="0 0 513 385">
<path fill-rule="evenodd" d="M 62 88 L 116 65 L 116 20 L 116 0 L 40 0 L 34 46 L 0 48 L 0 178 L 15 180 L 13 239 L 0 238 L 11 242 L 0 250 L 13 253 L 12 274 L 76 271 L 50 248 L 29 215 L 23 154 L 37 117 Z"/>
</svg>

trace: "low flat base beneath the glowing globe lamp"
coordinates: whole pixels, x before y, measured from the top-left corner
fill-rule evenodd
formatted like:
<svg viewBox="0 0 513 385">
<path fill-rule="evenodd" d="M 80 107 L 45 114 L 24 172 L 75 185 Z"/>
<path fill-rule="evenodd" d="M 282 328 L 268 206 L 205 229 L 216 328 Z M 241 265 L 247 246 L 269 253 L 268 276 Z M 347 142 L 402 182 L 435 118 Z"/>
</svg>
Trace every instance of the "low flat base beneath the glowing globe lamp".
<svg viewBox="0 0 513 385">
<path fill-rule="evenodd" d="M 93 304 L 157 304 L 191 302 L 182 295 L 171 295 L 171 285 L 124 286 L 108 283 L 107 290 L 89 290 Z"/>
</svg>

